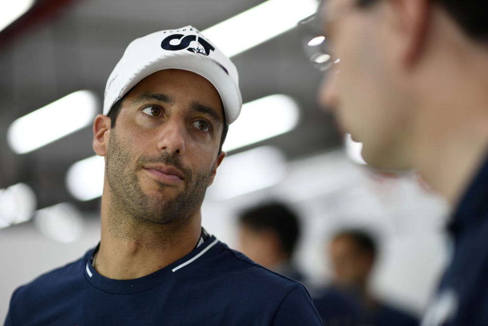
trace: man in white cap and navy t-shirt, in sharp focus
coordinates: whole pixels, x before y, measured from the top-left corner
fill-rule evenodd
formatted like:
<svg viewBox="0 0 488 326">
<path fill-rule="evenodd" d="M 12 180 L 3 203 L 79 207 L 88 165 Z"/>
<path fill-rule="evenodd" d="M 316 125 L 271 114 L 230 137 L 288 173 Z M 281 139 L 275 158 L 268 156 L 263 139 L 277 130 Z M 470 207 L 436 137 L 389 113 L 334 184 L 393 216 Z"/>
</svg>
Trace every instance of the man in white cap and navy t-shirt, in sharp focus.
<svg viewBox="0 0 488 326">
<path fill-rule="evenodd" d="M 5 325 L 321 325 L 301 284 L 201 227 L 240 108 L 234 65 L 194 27 L 133 41 L 93 124 L 101 241 L 17 289 Z"/>
</svg>

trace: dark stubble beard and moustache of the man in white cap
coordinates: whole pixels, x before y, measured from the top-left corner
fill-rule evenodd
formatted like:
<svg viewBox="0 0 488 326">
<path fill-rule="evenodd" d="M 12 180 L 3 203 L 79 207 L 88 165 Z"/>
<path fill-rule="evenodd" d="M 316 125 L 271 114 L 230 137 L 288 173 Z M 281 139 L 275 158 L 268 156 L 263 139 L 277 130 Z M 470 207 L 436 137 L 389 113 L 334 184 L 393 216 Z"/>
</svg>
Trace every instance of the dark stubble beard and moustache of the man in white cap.
<svg viewBox="0 0 488 326">
<path fill-rule="evenodd" d="M 133 162 L 134 153 L 129 141 L 119 142 L 112 130 L 107 149 L 106 174 L 112 192 L 109 214 L 113 230 L 119 226 L 161 225 L 179 227 L 184 225 L 199 209 L 204 200 L 212 171 L 193 173 L 183 167 L 175 155 L 162 152 L 157 157 L 142 155 Z M 159 163 L 173 166 L 185 175 L 185 190 L 168 197 L 163 183 L 156 194 L 145 194 L 139 184 L 138 173 L 143 164 Z M 125 228 L 125 227 L 124 227 Z M 120 230 L 121 231 L 121 230 Z"/>
</svg>

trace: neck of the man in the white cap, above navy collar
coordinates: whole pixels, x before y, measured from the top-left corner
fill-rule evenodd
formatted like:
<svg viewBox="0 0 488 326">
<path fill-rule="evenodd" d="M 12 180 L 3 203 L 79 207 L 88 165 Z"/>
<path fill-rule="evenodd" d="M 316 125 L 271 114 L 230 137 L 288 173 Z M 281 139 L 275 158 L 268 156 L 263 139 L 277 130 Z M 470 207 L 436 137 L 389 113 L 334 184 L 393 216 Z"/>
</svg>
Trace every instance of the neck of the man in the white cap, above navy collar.
<svg viewBox="0 0 488 326">
<path fill-rule="evenodd" d="M 94 267 L 112 279 L 139 278 L 168 266 L 191 252 L 201 234 L 200 212 L 181 226 L 135 221 L 120 225 L 115 216 L 104 213 L 102 208 L 101 241 Z"/>
</svg>

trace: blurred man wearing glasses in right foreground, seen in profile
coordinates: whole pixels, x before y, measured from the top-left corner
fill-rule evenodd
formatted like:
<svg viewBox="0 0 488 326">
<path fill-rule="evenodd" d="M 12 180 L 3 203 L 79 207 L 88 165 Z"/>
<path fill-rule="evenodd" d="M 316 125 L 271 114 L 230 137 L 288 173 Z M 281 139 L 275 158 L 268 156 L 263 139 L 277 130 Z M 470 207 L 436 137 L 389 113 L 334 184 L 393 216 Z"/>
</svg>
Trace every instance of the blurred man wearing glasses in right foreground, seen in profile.
<svg viewBox="0 0 488 326">
<path fill-rule="evenodd" d="M 333 50 L 323 106 L 370 165 L 417 170 L 455 208 L 454 255 L 424 326 L 488 325 L 486 13 L 481 0 L 325 0 L 319 10 Z"/>
</svg>

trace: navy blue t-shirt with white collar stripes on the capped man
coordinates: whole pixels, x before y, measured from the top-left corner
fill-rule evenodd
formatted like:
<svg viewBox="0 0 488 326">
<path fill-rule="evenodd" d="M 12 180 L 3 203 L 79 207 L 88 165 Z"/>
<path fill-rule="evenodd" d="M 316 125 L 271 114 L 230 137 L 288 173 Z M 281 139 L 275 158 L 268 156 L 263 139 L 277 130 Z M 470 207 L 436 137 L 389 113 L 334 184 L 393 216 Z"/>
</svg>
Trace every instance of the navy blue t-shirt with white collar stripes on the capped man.
<svg viewBox="0 0 488 326">
<path fill-rule="evenodd" d="M 12 295 L 5 326 L 319 326 L 298 282 L 210 236 L 148 276 L 114 280 L 92 267 L 93 250 Z"/>
</svg>

